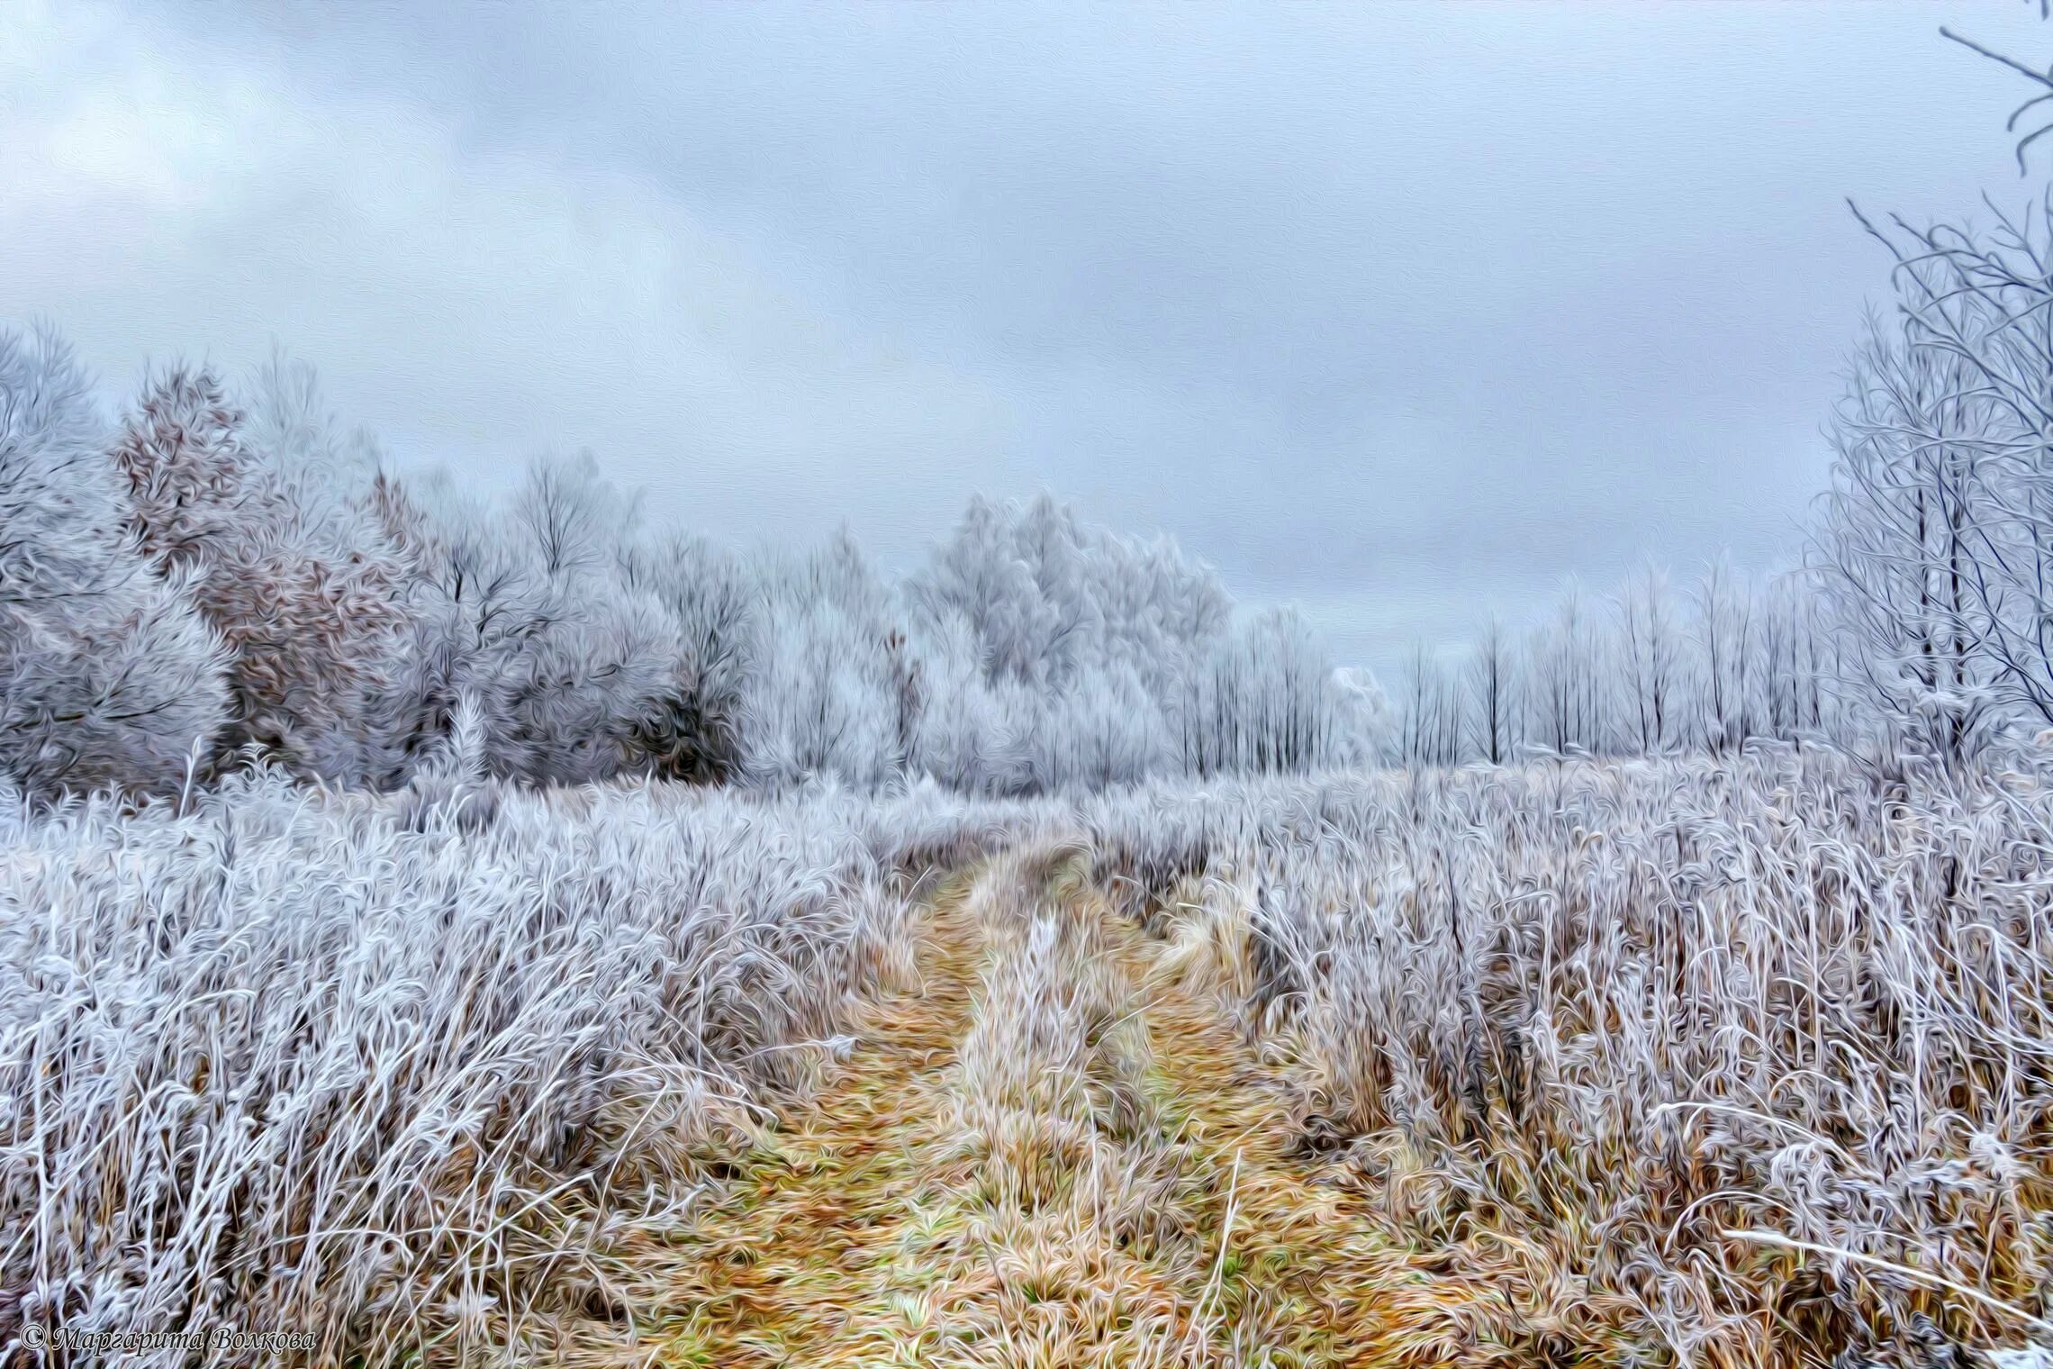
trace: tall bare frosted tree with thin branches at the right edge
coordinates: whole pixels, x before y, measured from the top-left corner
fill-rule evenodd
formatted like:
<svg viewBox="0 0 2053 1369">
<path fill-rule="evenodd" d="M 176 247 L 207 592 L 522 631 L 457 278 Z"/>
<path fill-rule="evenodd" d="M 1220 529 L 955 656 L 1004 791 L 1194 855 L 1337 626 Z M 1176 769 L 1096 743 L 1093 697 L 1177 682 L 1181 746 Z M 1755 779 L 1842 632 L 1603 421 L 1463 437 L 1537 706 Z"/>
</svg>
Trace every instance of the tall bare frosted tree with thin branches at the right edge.
<svg viewBox="0 0 2053 1369">
<path fill-rule="evenodd" d="M 1901 333 L 1858 353 L 1819 564 L 1868 702 L 1959 759 L 2053 722 L 2053 255 L 2010 224 L 1885 240 Z"/>
</svg>

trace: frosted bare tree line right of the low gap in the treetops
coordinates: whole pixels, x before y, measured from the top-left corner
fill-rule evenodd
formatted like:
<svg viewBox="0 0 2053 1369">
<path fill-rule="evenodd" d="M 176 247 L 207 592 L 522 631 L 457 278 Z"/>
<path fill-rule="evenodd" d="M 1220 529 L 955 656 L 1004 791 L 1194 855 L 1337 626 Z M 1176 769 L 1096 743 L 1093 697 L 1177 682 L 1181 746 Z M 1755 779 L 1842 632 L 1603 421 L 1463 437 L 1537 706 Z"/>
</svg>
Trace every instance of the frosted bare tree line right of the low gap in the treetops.
<svg viewBox="0 0 2053 1369">
<path fill-rule="evenodd" d="M 1946 33 L 1946 31 L 1942 31 Z M 2053 99 L 2053 74 L 1973 51 Z M 2053 125 L 2024 133 L 2026 150 Z M 1753 581 L 1655 566 L 1458 661 L 1415 651 L 1390 755 L 1720 751 L 1815 739 L 1959 766 L 2053 729 L 2053 187 L 1985 220 L 1860 228 L 1889 257 L 1831 410 L 1803 562 Z"/>
</svg>

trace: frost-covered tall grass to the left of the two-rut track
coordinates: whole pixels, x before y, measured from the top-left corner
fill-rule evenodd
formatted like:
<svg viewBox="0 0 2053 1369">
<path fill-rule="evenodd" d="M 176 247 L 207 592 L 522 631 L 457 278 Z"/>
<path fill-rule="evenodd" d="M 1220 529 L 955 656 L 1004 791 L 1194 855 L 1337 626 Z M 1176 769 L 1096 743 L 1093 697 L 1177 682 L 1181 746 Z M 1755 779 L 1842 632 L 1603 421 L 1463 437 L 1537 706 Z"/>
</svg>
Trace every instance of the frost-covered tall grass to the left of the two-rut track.
<svg viewBox="0 0 2053 1369">
<path fill-rule="evenodd" d="M 854 817 L 585 790 L 464 831 L 277 780 L 12 807 L 0 1359 L 29 1324 L 380 1359 L 606 1307 L 591 1250 L 803 1086 L 891 938 Z"/>
</svg>

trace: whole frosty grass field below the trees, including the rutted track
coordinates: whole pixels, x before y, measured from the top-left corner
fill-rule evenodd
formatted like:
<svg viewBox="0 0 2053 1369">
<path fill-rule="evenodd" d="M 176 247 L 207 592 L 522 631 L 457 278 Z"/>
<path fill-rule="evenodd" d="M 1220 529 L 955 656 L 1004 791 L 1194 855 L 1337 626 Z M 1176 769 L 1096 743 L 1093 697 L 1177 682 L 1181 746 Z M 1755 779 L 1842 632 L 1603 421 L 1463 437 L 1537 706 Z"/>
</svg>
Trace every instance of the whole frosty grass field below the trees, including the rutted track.
<svg viewBox="0 0 2053 1369">
<path fill-rule="evenodd" d="M 324 1363 L 2053 1338 L 2037 774 L 255 780 L 0 842 L 8 1359 L 216 1322 Z"/>
</svg>

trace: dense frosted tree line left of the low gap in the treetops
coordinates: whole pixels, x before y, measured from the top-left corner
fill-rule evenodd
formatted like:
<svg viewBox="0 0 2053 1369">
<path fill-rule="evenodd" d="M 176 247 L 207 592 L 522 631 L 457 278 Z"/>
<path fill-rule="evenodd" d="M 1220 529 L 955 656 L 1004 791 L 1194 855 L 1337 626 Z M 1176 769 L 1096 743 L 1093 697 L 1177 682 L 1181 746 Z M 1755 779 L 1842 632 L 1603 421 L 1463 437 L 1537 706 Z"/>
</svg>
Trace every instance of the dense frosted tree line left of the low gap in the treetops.
<svg viewBox="0 0 2053 1369">
<path fill-rule="evenodd" d="M 460 712 L 505 780 L 981 794 L 1359 764 L 1371 696 L 1172 542 L 975 499 L 905 577 L 844 532 L 645 530 L 589 458 L 409 480 L 312 371 L 172 367 L 107 421 L 0 335 L 0 770 L 37 798 L 267 764 L 386 790 Z"/>
</svg>

